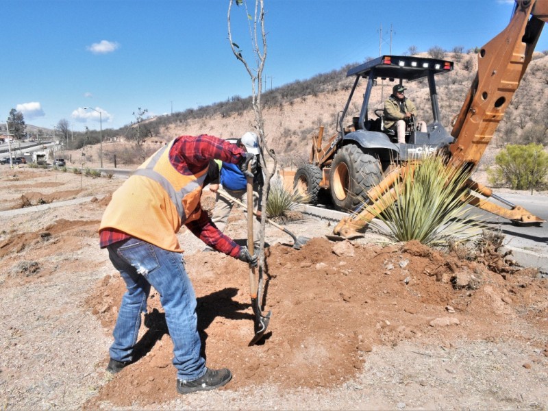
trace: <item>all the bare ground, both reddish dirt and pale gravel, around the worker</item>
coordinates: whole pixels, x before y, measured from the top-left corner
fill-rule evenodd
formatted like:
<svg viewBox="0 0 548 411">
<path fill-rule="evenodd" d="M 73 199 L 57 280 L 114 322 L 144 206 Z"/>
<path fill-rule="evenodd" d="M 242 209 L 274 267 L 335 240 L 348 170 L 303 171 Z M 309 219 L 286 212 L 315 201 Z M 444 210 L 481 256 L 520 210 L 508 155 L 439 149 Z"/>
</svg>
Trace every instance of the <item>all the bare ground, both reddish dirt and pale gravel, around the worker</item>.
<svg viewBox="0 0 548 411">
<path fill-rule="evenodd" d="M 263 303 L 272 319 L 253 347 L 247 266 L 179 233 L 203 351 L 208 366 L 231 369 L 227 386 L 177 395 L 155 291 L 136 361 L 112 376 L 104 369 L 125 286 L 96 230 L 122 180 L 84 182 L 0 171 L 0 200 L 12 209 L 22 197 L 55 204 L 97 196 L 0 213 L 3 408 L 548 408 L 548 280 L 535 269 L 515 266 L 489 241 L 473 259 L 418 242 L 382 247 L 374 234 L 332 242 L 332 227 L 312 219 L 286 225 L 311 238 L 301 250 L 266 228 Z M 213 203 L 206 190 L 203 207 Z M 244 242 L 244 229 L 235 209 L 227 234 Z"/>
</svg>

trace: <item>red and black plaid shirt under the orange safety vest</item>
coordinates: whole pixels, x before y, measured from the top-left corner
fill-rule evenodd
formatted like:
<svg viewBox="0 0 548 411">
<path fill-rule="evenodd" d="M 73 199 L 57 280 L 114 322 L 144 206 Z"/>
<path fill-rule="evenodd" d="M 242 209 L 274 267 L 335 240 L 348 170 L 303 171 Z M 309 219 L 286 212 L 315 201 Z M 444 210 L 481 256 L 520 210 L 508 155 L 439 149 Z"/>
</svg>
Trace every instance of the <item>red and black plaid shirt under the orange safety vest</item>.
<svg viewBox="0 0 548 411">
<path fill-rule="evenodd" d="M 236 145 L 229 145 L 225 140 L 202 134 L 197 137 L 178 137 L 169 151 L 169 160 L 179 173 L 192 175 L 202 171 L 213 158 L 236 164 L 244 153 L 245 151 Z M 216 250 L 232 257 L 240 254 L 240 246 L 221 233 L 206 212 L 202 212 L 199 219 L 185 225 L 192 234 Z M 130 237 L 113 228 L 103 229 L 99 233 L 101 248 Z"/>
</svg>

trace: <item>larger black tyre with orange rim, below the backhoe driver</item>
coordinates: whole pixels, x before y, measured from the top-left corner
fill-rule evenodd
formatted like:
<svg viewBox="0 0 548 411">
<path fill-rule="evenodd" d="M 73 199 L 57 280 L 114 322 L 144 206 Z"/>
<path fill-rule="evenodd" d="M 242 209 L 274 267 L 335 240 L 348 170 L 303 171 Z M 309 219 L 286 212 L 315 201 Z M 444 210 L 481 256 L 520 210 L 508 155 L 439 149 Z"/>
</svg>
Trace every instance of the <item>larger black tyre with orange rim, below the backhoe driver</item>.
<svg viewBox="0 0 548 411">
<path fill-rule="evenodd" d="M 334 206 L 339 210 L 353 210 L 381 179 L 382 168 L 377 158 L 356 145 L 342 147 L 335 154 L 329 173 Z"/>
</svg>

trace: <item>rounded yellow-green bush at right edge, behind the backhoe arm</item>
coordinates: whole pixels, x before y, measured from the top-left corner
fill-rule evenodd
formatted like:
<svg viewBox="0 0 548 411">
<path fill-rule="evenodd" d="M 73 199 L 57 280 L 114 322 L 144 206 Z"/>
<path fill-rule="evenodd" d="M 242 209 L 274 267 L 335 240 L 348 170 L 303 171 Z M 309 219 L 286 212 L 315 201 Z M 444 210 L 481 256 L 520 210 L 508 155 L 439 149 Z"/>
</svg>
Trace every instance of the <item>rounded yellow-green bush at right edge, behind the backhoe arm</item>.
<svg viewBox="0 0 548 411">
<path fill-rule="evenodd" d="M 496 166 L 487 169 L 490 184 L 514 190 L 544 188 L 548 176 L 548 154 L 543 145 L 508 145 L 495 157 Z"/>
</svg>

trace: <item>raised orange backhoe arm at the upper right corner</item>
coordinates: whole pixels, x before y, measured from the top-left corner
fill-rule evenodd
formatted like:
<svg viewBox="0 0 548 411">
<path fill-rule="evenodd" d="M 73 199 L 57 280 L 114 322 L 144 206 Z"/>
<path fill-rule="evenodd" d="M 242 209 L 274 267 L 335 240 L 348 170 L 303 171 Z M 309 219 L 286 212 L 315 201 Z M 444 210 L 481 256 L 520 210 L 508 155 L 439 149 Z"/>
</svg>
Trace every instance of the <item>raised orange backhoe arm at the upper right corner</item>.
<svg viewBox="0 0 548 411">
<path fill-rule="evenodd" d="M 530 18 L 531 16 L 531 18 Z M 519 0 L 510 23 L 478 54 L 477 75 L 453 126 L 452 159 L 474 168 L 529 65 L 548 21 L 548 1 Z"/>
</svg>

